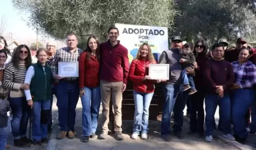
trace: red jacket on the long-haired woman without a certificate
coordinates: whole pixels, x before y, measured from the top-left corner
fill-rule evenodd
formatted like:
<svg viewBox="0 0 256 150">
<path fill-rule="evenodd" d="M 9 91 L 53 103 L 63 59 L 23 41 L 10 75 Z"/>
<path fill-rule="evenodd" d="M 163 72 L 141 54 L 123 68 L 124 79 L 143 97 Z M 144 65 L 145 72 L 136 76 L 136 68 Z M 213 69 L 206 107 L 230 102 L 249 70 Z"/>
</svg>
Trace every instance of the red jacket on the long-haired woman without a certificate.
<svg viewBox="0 0 256 150">
<path fill-rule="evenodd" d="M 86 60 L 86 52 L 80 54 L 79 58 L 79 87 L 96 88 L 99 86 L 100 81 L 98 73 L 100 69 L 100 63 L 91 55 L 90 60 Z"/>
</svg>

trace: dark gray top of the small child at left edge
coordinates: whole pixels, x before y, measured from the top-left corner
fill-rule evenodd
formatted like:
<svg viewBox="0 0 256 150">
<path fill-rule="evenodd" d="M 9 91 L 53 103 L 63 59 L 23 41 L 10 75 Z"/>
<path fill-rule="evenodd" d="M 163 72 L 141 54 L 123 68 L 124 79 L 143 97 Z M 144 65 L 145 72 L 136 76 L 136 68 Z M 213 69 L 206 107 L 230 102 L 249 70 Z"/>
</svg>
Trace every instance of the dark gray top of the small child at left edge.
<svg viewBox="0 0 256 150">
<path fill-rule="evenodd" d="M 7 127 L 8 116 L 7 112 L 10 109 L 10 102 L 8 100 L 0 100 L 0 128 Z"/>
</svg>

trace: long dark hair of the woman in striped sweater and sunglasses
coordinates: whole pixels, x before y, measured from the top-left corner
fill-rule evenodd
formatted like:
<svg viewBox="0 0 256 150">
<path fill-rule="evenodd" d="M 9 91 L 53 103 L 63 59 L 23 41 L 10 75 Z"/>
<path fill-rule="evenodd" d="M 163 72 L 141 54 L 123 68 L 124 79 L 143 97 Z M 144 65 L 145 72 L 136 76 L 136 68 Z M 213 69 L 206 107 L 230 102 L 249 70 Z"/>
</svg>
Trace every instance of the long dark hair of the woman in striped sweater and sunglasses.
<svg viewBox="0 0 256 150">
<path fill-rule="evenodd" d="M 20 50 L 21 50 L 22 48 L 26 48 L 26 49 L 27 49 L 27 58 L 25 59 L 25 65 L 26 65 L 26 67 L 28 68 L 28 67 L 30 67 L 31 64 L 32 64 L 32 58 L 31 58 L 30 49 L 28 48 L 27 45 L 23 45 L 23 44 L 22 44 L 22 45 L 19 45 L 19 46 L 16 48 L 16 50 L 15 50 L 15 52 L 14 52 L 14 54 L 13 54 L 13 58 L 11 59 L 11 62 L 13 63 L 13 66 L 14 66 L 15 68 L 18 68 L 18 67 L 19 67 L 19 61 L 20 61 L 19 53 L 20 53 Z"/>
</svg>

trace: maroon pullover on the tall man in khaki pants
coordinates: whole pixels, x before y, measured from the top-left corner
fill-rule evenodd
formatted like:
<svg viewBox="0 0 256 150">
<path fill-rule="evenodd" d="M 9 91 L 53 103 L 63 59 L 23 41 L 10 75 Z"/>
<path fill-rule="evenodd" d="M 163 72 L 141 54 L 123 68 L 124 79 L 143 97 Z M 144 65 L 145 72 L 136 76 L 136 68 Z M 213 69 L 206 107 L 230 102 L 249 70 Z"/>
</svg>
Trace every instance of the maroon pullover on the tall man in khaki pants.
<svg viewBox="0 0 256 150">
<path fill-rule="evenodd" d="M 127 84 L 129 74 L 128 50 L 121 44 L 114 47 L 109 41 L 100 44 L 101 68 L 100 78 L 108 82 Z"/>
</svg>

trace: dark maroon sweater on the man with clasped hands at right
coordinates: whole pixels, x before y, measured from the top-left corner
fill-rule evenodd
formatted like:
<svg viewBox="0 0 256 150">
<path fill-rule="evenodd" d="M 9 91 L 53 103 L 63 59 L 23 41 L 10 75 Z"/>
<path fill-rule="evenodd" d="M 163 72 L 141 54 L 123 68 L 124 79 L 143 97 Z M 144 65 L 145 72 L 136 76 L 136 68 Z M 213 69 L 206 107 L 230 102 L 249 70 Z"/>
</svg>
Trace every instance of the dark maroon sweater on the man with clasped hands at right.
<svg viewBox="0 0 256 150">
<path fill-rule="evenodd" d="M 234 83 L 234 72 L 228 61 L 214 61 L 210 59 L 205 65 L 205 94 L 217 95 L 216 86 L 222 85 L 224 93 L 228 93 L 229 87 Z"/>
</svg>

